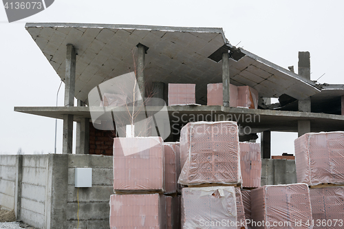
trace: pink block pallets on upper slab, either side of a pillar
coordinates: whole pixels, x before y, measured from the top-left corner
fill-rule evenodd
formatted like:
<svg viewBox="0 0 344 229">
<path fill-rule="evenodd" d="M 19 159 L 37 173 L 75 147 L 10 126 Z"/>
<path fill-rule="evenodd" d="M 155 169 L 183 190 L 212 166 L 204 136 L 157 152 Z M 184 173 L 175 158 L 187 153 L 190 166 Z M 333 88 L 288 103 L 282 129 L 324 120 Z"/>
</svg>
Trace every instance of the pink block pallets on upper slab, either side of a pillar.
<svg viewBox="0 0 344 229">
<path fill-rule="evenodd" d="M 230 107 L 258 108 L 258 92 L 249 86 L 229 85 Z M 207 85 L 207 105 L 223 105 L 222 83 L 210 83 Z"/>
</svg>

